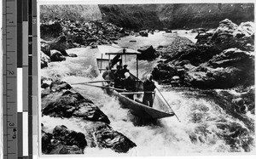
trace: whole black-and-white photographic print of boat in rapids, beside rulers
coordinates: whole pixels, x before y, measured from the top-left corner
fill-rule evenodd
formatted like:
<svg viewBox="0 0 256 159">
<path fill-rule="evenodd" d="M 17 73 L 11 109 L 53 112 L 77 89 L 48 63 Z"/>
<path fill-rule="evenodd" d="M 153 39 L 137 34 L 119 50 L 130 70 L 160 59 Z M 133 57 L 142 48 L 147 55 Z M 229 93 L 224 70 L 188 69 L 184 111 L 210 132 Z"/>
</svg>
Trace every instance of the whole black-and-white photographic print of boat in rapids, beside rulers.
<svg viewBox="0 0 256 159">
<path fill-rule="evenodd" d="M 254 3 L 40 3 L 41 156 L 255 154 Z"/>
</svg>

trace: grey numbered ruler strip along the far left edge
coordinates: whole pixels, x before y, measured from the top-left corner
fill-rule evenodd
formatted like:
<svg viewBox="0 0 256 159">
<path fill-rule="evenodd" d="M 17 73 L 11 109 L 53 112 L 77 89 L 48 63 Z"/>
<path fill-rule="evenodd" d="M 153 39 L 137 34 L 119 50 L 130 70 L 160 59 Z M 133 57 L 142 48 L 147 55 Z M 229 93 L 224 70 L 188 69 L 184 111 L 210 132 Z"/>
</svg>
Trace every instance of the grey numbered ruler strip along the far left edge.
<svg viewBox="0 0 256 159">
<path fill-rule="evenodd" d="M 17 158 L 16 0 L 3 1 L 3 158 Z"/>
</svg>

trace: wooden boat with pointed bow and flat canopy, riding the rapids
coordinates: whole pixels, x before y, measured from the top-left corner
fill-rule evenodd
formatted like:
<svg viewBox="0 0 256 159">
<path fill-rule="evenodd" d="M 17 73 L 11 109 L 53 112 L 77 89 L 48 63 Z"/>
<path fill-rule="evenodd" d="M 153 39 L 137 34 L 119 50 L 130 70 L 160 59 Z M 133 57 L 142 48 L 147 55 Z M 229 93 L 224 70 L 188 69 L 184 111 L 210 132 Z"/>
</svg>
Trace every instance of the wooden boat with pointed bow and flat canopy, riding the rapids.
<svg viewBox="0 0 256 159">
<path fill-rule="evenodd" d="M 140 54 L 139 52 L 135 50 L 127 50 L 126 48 L 119 48 L 121 50 L 117 51 L 116 46 L 98 46 L 100 51 L 103 49 L 103 52 L 108 55 L 108 59 L 97 58 L 97 64 L 99 67 L 99 70 L 104 70 L 104 67 L 106 66 L 106 61 L 108 61 L 108 65 L 110 63 L 110 55 L 117 55 L 121 54 Z M 111 52 L 110 52 L 111 51 Z M 104 63 L 105 62 L 105 65 Z M 122 60 L 120 60 L 122 62 Z M 137 71 L 138 72 L 138 71 Z M 131 73 L 130 73 L 131 74 Z M 138 73 L 137 73 L 138 75 Z M 143 96 L 143 82 L 139 80 L 137 77 L 131 74 L 131 77 L 136 79 L 136 92 L 125 92 L 125 90 L 122 89 L 116 89 L 109 86 L 108 82 L 102 82 L 103 88 L 105 88 L 107 94 L 110 96 L 115 96 L 119 99 L 120 103 L 125 107 L 131 110 L 131 113 L 135 116 L 143 117 L 146 119 L 159 119 L 163 117 L 168 116 L 174 116 L 175 113 L 172 111 L 171 107 L 167 104 L 166 99 L 163 99 L 164 97 L 160 94 L 159 90 L 156 89 L 154 91 L 154 104 L 153 107 L 149 107 L 148 105 L 144 105 L 142 102 L 142 96 Z M 129 99 L 127 95 L 134 95 L 135 99 Z"/>
</svg>

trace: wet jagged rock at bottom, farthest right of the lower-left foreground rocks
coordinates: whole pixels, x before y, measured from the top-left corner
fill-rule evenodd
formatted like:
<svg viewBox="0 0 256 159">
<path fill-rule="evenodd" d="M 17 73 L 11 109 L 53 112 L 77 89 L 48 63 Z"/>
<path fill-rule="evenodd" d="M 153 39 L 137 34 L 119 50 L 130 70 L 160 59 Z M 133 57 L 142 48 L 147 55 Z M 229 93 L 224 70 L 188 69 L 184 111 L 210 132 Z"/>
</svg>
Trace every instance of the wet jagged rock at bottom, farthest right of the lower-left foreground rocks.
<svg viewBox="0 0 256 159">
<path fill-rule="evenodd" d="M 122 133 L 114 131 L 108 125 L 96 128 L 95 131 L 97 145 L 101 148 L 110 148 L 119 153 L 125 153 L 137 146 Z"/>
</svg>

